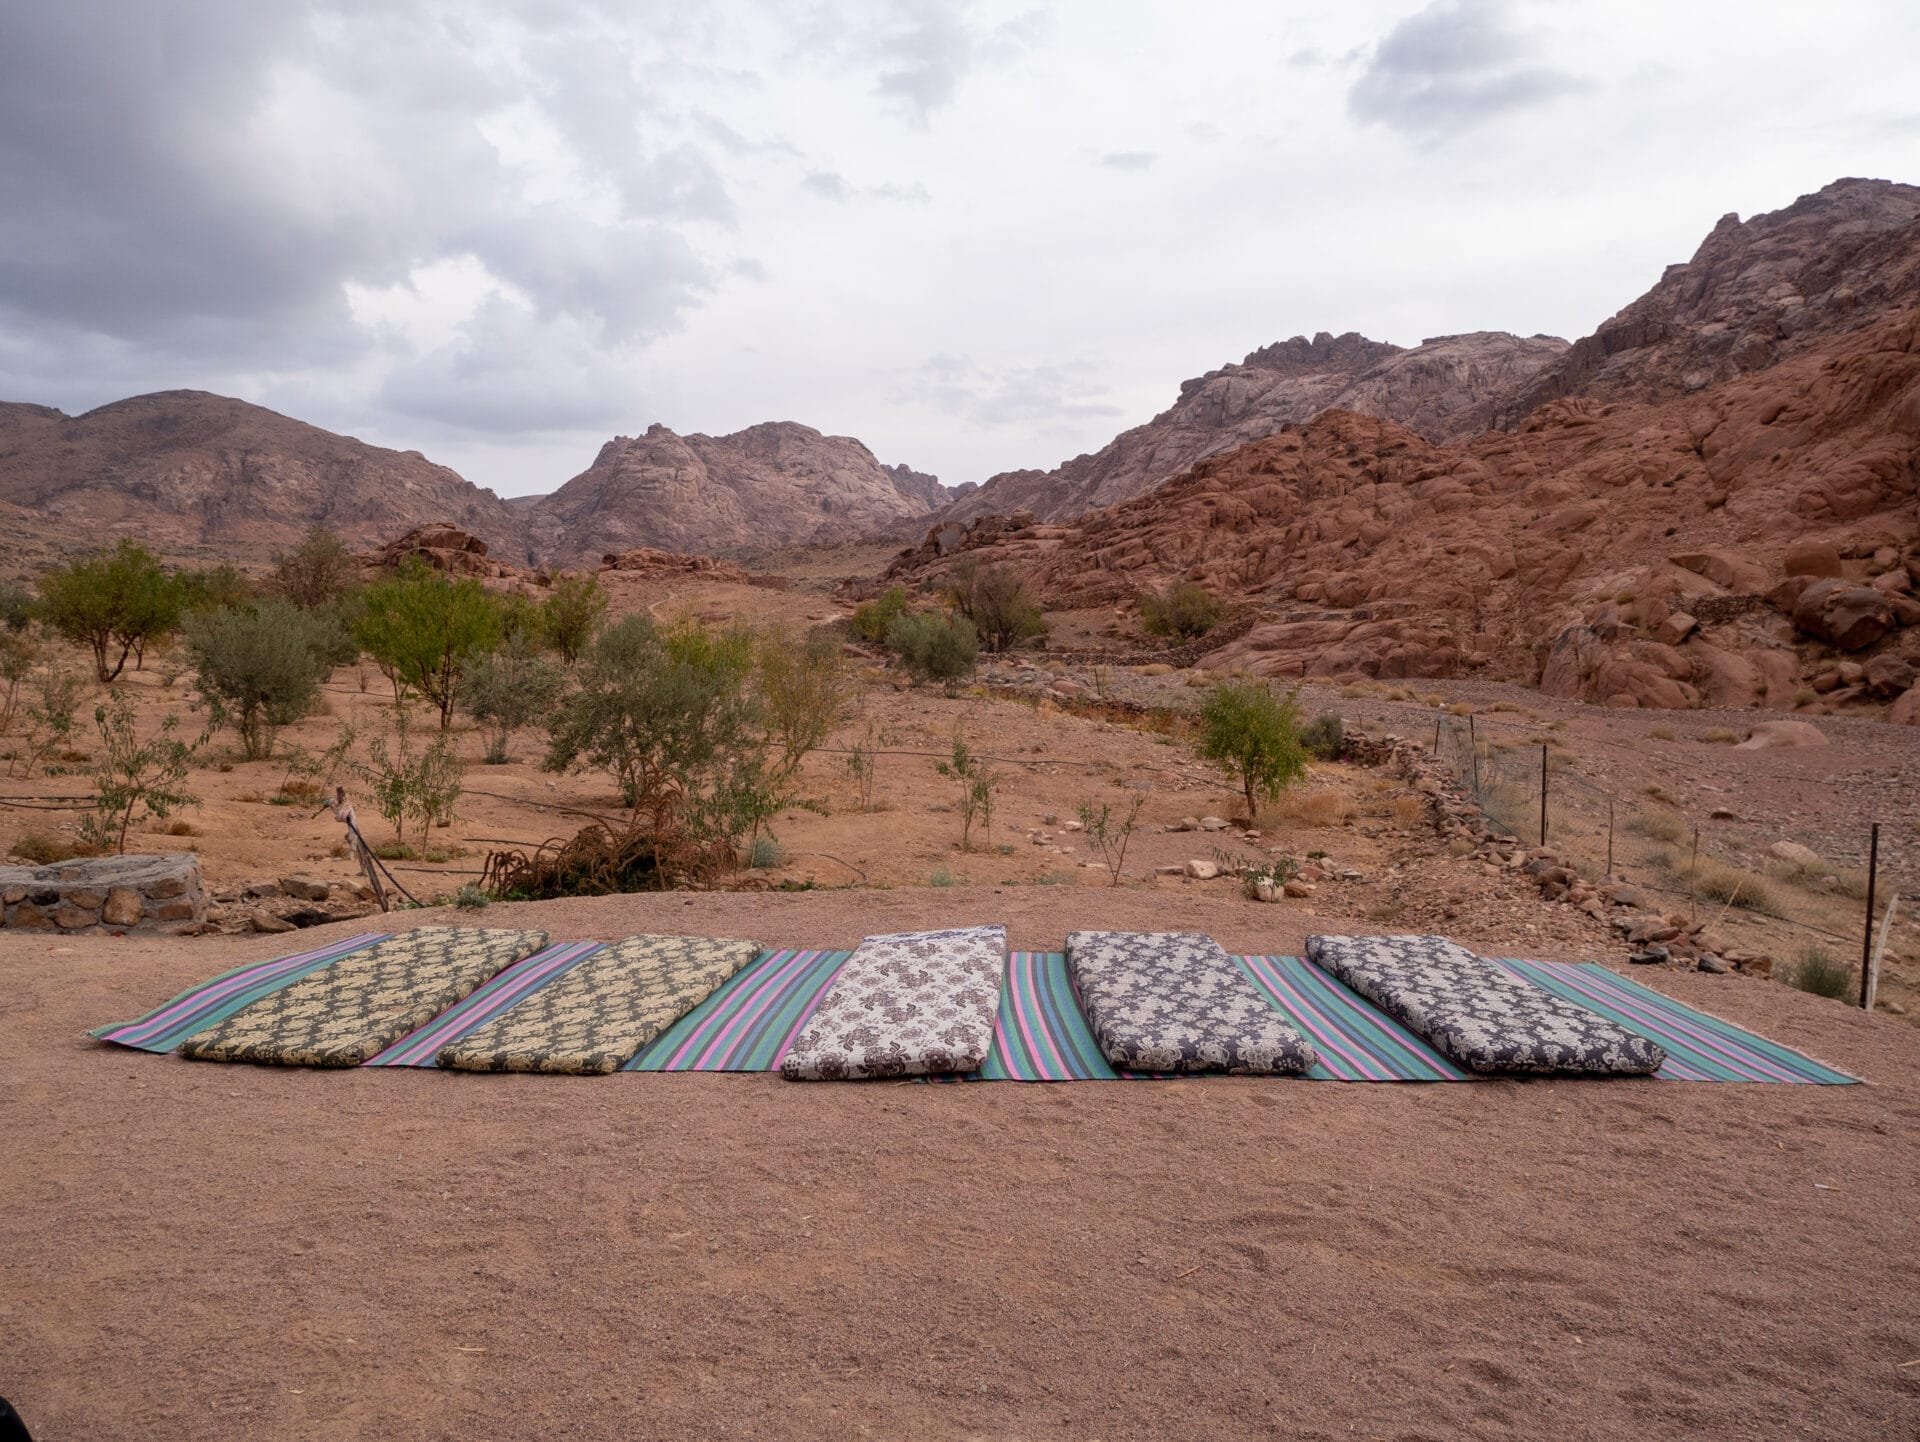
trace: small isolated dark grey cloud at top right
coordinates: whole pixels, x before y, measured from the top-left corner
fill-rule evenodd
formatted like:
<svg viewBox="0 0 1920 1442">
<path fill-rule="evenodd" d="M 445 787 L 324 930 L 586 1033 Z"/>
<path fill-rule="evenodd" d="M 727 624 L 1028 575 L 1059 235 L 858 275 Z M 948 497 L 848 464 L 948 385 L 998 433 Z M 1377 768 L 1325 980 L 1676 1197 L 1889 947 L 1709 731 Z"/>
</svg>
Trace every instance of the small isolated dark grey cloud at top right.
<svg viewBox="0 0 1920 1442">
<path fill-rule="evenodd" d="M 1434 0 L 1400 21 L 1348 90 L 1357 121 L 1444 140 L 1482 121 L 1588 88 L 1540 61 L 1505 0 Z"/>
</svg>

